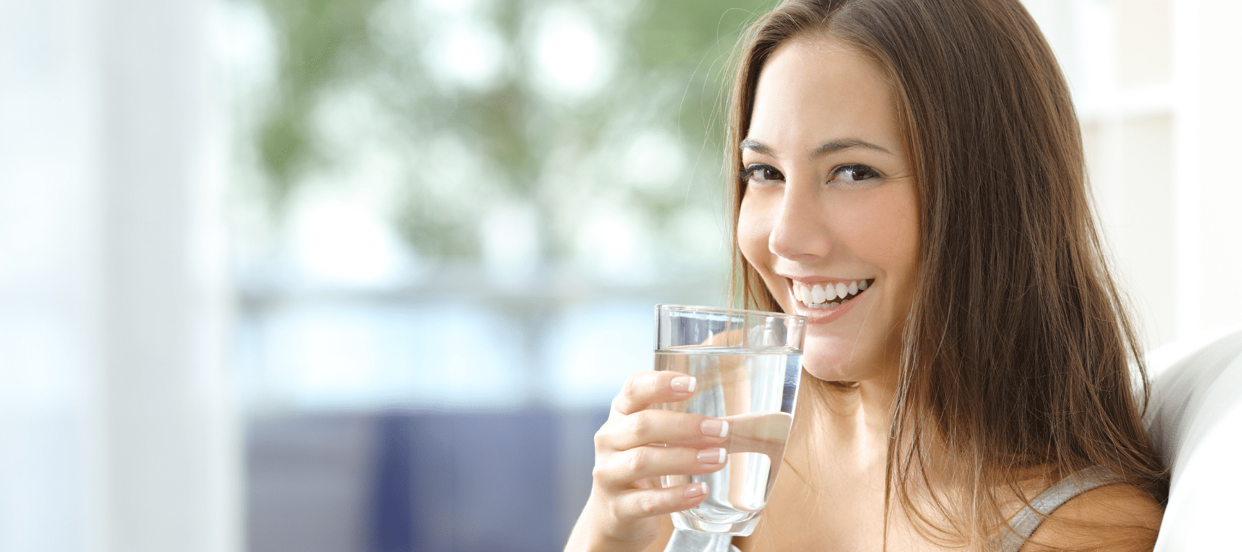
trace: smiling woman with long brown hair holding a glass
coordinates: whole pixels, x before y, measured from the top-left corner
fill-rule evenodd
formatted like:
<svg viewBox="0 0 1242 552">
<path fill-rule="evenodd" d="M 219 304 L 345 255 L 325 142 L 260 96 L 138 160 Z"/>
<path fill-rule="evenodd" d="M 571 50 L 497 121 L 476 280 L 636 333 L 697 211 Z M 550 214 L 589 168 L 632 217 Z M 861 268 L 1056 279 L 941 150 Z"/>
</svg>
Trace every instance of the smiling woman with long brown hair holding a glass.
<svg viewBox="0 0 1242 552">
<path fill-rule="evenodd" d="M 785 2 L 744 39 L 730 127 L 741 295 L 809 317 L 781 477 L 754 535 L 672 535 L 703 484 L 648 479 L 719 470 L 725 438 L 647 409 L 689 378 L 635 374 L 568 550 L 1150 550 L 1143 363 L 1018 0 Z"/>
</svg>

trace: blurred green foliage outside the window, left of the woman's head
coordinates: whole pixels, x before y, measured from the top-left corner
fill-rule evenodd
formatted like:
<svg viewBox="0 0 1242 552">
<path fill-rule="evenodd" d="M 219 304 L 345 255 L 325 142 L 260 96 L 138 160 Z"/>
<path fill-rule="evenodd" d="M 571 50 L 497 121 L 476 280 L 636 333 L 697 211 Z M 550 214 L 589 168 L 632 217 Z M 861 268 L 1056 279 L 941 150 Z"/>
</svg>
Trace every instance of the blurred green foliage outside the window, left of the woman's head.
<svg viewBox="0 0 1242 552">
<path fill-rule="evenodd" d="M 551 221 L 540 228 L 549 259 L 569 251 L 584 198 L 616 196 L 657 228 L 689 204 L 709 203 L 720 174 L 720 75 L 739 31 L 771 4 L 651 1 L 622 11 L 602 0 L 570 4 L 607 31 L 616 62 L 601 91 L 558 102 L 539 92 L 529 61 L 532 29 L 548 1 L 474 9 L 471 16 L 504 45 L 501 77 L 482 88 L 446 86 L 428 68 L 428 30 L 442 21 L 427 2 L 252 1 L 268 14 L 279 45 L 276 99 L 253 138 L 273 206 L 312 172 L 351 154 L 324 136 L 315 113 L 330 94 L 360 92 L 380 106 L 381 142 L 407 163 L 394 221 L 420 254 L 441 259 L 479 254 L 478 220 L 492 201 L 525 201 Z M 643 168 L 620 167 L 619 143 L 652 127 L 672 129 L 691 170 L 661 175 L 667 189 L 626 185 L 619 172 Z M 436 158 L 446 142 L 473 162 Z"/>
</svg>

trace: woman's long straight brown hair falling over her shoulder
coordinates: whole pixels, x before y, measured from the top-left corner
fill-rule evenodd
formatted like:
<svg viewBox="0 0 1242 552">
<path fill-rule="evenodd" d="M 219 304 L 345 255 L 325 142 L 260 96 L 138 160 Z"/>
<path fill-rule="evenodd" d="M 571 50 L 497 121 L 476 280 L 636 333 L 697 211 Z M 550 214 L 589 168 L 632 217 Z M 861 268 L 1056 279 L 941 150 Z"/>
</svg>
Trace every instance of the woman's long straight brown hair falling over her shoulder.
<svg viewBox="0 0 1242 552">
<path fill-rule="evenodd" d="M 886 516 L 900 505 L 924 537 L 977 548 L 1002 530 L 999 490 L 1021 497 L 1032 472 L 1054 481 L 1092 465 L 1161 500 L 1139 342 L 1104 261 L 1069 90 L 1030 14 L 1018 0 L 781 4 L 739 44 L 727 174 L 741 169 L 764 63 L 812 36 L 887 73 L 919 194 Z M 732 182 L 735 225 L 745 183 Z M 735 230 L 735 290 L 779 311 Z M 955 451 L 936 460 L 944 472 L 928 474 L 943 450 Z M 933 475 L 959 496 L 932 492 Z"/>
</svg>

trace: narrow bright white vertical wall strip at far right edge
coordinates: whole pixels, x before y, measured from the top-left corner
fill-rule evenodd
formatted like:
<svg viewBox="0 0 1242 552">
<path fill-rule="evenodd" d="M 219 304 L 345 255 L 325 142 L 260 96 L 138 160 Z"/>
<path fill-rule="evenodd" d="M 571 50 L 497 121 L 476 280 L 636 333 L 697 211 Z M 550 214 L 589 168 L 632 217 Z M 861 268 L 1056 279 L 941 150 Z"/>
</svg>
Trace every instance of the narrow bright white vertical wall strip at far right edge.
<svg viewBox="0 0 1242 552">
<path fill-rule="evenodd" d="M 1174 0 L 1174 180 L 1185 328 L 1242 321 L 1242 2 Z"/>
</svg>

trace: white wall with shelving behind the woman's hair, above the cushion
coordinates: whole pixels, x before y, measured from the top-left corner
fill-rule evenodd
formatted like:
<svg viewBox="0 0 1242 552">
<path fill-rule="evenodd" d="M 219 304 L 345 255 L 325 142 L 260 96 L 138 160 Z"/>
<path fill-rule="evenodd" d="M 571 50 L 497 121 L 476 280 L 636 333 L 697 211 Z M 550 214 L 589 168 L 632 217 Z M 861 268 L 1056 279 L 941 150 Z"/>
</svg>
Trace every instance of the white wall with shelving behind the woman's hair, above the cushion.
<svg viewBox="0 0 1242 552">
<path fill-rule="evenodd" d="M 1242 2 L 1025 0 L 1057 50 L 1149 347 L 1242 322 Z"/>
</svg>

